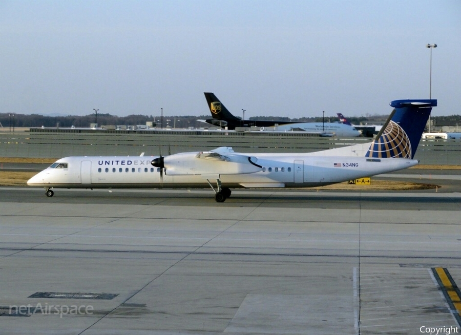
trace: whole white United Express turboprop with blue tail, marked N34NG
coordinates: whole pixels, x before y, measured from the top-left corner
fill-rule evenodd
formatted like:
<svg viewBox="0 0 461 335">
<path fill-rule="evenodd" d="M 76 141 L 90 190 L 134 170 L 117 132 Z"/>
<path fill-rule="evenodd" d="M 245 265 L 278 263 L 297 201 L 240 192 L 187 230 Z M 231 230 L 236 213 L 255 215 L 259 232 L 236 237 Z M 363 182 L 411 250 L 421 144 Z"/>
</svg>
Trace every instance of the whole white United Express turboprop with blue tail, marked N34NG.
<svg viewBox="0 0 461 335">
<path fill-rule="evenodd" d="M 309 187 L 397 171 L 416 165 L 414 154 L 437 100 L 395 100 L 382 131 L 371 143 L 314 153 L 208 152 L 155 157 L 66 157 L 27 182 L 53 188 L 203 188 L 217 202 L 238 187 Z"/>
</svg>

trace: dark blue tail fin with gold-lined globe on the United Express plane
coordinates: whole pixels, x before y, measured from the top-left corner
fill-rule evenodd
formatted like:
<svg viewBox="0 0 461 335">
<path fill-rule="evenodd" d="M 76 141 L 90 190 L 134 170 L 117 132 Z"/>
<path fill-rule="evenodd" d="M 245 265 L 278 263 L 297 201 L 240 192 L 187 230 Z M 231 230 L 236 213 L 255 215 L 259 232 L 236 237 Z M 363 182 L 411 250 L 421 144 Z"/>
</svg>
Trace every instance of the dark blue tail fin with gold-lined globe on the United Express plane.
<svg viewBox="0 0 461 335">
<path fill-rule="evenodd" d="M 371 142 L 366 157 L 413 159 L 432 107 L 437 100 L 394 100 L 394 108 Z"/>
</svg>

